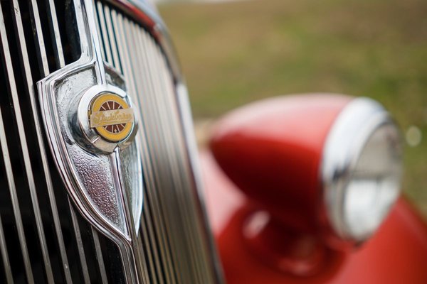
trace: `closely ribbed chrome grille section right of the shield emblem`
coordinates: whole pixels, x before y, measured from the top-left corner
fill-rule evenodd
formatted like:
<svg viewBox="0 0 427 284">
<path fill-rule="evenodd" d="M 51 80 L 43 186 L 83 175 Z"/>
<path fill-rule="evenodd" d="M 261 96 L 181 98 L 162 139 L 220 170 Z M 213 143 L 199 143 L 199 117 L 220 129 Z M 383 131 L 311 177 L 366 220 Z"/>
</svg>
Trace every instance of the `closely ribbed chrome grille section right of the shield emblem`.
<svg viewBox="0 0 427 284">
<path fill-rule="evenodd" d="M 141 23 L 96 2 L 105 61 L 124 75 L 139 109 L 146 283 L 214 283 L 206 231 L 167 57 Z"/>
</svg>

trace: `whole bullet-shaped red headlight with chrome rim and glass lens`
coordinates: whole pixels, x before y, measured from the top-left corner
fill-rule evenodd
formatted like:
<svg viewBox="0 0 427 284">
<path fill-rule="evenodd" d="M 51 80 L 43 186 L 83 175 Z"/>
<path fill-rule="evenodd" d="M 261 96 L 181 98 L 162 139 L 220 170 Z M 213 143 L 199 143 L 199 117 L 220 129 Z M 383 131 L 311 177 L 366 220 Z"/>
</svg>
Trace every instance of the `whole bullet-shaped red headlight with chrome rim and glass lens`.
<svg viewBox="0 0 427 284">
<path fill-rule="evenodd" d="M 372 99 L 265 99 L 219 121 L 210 146 L 275 231 L 310 236 L 334 251 L 369 239 L 399 197 L 400 133 Z"/>
</svg>

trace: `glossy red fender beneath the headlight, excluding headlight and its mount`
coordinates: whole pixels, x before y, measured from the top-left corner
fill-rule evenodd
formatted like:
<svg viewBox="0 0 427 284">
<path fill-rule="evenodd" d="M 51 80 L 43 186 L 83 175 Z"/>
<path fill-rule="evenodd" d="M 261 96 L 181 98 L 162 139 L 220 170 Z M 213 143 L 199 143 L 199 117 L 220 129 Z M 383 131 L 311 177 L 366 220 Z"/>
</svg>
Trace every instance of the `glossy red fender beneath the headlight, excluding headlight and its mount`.
<svg viewBox="0 0 427 284">
<path fill-rule="evenodd" d="M 273 268 L 270 259 L 274 256 L 260 257 L 248 245 L 243 231 L 259 206 L 223 175 L 210 153 L 202 153 L 201 158 L 209 219 L 227 283 L 427 283 L 427 227 L 405 200 L 397 202 L 379 231 L 362 248 L 346 253 L 330 251 L 320 271 L 300 277 Z"/>
</svg>

